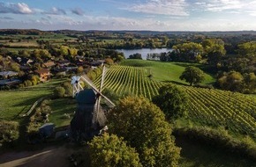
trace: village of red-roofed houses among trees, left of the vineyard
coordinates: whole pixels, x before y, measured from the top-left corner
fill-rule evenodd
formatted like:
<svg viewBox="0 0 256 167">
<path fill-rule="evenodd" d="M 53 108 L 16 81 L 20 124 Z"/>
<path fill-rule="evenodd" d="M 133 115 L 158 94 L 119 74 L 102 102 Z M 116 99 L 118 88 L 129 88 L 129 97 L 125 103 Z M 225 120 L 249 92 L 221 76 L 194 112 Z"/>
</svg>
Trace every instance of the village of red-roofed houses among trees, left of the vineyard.
<svg viewBox="0 0 256 167">
<path fill-rule="evenodd" d="M 5 64 L 16 64 L 19 72 L 6 68 Z M 31 58 L 7 56 L 0 64 L 0 89 L 17 89 L 23 86 L 31 86 L 37 83 L 27 82 L 27 76 L 38 76 L 41 83 L 49 81 L 52 77 L 64 77 L 78 72 L 86 72 L 89 69 L 95 69 L 101 66 L 105 60 L 94 60 L 83 56 L 75 56 L 74 61 L 47 61 L 38 63 Z M 34 68 L 37 66 L 36 68 Z M 80 69 L 79 69 L 80 68 Z M 29 80 L 28 80 L 29 81 Z"/>
</svg>

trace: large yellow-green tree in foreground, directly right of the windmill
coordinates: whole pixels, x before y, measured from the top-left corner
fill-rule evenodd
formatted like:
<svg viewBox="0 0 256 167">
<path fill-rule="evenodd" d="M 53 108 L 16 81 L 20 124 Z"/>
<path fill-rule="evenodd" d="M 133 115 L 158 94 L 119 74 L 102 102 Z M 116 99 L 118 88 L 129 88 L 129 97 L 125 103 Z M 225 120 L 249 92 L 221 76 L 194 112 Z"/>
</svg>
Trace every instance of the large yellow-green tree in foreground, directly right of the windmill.
<svg viewBox="0 0 256 167">
<path fill-rule="evenodd" d="M 159 107 L 143 97 L 126 97 L 109 112 L 109 129 L 139 153 L 143 166 L 177 166 L 180 149 Z"/>
</svg>

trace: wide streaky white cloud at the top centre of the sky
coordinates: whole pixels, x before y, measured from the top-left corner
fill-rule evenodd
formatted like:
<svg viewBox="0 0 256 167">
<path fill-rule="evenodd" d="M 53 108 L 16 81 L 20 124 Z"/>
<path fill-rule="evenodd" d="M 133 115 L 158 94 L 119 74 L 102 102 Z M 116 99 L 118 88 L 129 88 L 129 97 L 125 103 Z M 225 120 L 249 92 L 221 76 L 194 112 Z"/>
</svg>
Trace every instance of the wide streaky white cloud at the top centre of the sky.
<svg viewBox="0 0 256 167">
<path fill-rule="evenodd" d="M 188 16 L 186 11 L 187 4 L 184 0 L 148 0 L 144 4 L 132 4 L 126 8 L 127 11 L 169 15 L 169 16 Z"/>
</svg>

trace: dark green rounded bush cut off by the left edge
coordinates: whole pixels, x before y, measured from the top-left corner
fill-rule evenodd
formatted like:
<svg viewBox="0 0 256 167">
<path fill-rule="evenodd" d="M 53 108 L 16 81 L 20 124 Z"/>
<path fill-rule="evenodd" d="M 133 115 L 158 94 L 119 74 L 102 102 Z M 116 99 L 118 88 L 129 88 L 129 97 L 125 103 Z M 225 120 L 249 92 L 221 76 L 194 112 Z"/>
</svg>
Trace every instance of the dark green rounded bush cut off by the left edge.
<svg viewBox="0 0 256 167">
<path fill-rule="evenodd" d="M 19 138 L 19 123 L 0 120 L 0 145 L 11 143 Z"/>
</svg>

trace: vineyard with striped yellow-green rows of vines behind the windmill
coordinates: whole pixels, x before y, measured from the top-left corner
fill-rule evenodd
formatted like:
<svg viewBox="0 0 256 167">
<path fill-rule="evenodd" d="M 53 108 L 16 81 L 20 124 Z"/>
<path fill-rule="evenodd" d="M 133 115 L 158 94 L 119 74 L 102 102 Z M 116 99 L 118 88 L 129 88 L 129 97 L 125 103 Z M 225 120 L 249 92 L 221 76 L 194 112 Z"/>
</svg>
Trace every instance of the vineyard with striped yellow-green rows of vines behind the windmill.
<svg viewBox="0 0 256 167">
<path fill-rule="evenodd" d="M 165 83 L 154 81 L 142 67 L 111 66 L 103 89 L 151 99 Z M 99 86 L 100 78 L 94 81 Z M 179 85 L 189 97 L 189 118 L 202 125 L 222 126 L 256 138 L 256 99 L 240 93 Z"/>
</svg>

